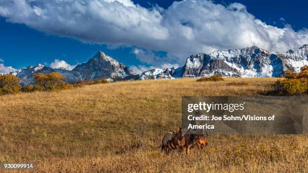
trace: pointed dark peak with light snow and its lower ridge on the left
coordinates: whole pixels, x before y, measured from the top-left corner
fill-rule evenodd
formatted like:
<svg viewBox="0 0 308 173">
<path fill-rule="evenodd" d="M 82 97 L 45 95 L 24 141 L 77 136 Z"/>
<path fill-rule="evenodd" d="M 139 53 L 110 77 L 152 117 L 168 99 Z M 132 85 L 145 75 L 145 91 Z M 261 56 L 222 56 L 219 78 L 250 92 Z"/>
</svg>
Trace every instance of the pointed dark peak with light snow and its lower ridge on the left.
<svg viewBox="0 0 308 173">
<path fill-rule="evenodd" d="M 34 73 L 51 73 L 59 72 L 66 77 L 66 81 L 88 80 L 96 78 L 129 78 L 134 73 L 130 71 L 125 64 L 119 63 L 117 60 L 107 56 L 102 51 L 99 51 L 88 62 L 77 65 L 72 70 L 64 68 L 50 68 L 42 64 L 36 66 L 28 66 L 10 74 L 16 75 L 21 78 L 21 84 L 33 84 Z"/>
</svg>

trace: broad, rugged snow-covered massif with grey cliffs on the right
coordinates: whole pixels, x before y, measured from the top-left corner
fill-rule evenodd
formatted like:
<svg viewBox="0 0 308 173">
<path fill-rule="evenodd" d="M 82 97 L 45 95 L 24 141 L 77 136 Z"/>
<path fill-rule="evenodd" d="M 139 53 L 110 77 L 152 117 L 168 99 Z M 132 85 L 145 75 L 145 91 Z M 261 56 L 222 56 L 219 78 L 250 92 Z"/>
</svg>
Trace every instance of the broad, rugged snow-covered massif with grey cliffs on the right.
<svg viewBox="0 0 308 173">
<path fill-rule="evenodd" d="M 304 65 L 308 65 L 308 45 L 286 53 L 269 52 L 252 46 L 191 55 L 187 58 L 185 65 L 177 69 L 177 73 L 169 73 L 168 78 L 200 77 L 213 74 L 234 77 L 278 77 L 284 75 L 287 69 L 298 72 Z M 155 71 L 165 70 L 156 69 Z M 143 73 L 151 76 L 153 75 L 151 71 Z M 142 79 L 145 79 L 144 75 Z"/>
</svg>

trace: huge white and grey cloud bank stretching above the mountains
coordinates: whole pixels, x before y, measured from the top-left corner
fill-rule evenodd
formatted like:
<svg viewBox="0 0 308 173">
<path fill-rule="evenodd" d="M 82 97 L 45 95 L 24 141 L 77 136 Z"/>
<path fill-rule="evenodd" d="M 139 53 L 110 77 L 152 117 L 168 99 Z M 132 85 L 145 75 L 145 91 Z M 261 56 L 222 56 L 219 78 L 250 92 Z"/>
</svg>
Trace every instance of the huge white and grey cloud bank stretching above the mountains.
<svg viewBox="0 0 308 173">
<path fill-rule="evenodd" d="M 182 64 L 190 54 L 217 49 L 256 45 L 285 52 L 308 43 L 307 29 L 277 28 L 256 19 L 242 4 L 206 0 L 174 2 L 168 9 L 146 9 L 130 0 L 0 0 L 0 16 L 83 42 L 139 47 L 148 56 L 136 52 L 137 57 L 149 64 Z M 158 59 L 156 51 L 168 56 Z"/>
</svg>

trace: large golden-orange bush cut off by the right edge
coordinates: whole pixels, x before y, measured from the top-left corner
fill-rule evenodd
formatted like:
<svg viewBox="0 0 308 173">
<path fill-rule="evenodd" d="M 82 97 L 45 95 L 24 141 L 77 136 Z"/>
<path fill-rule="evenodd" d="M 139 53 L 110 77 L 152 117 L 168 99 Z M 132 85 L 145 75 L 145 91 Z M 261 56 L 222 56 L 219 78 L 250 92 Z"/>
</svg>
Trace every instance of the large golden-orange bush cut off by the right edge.
<svg viewBox="0 0 308 173">
<path fill-rule="evenodd" d="M 289 70 L 283 80 L 277 80 L 273 85 L 275 93 L 280 95 L 302 95 L 308 93 L 308 66 L 300 68 L 299 73 Z"/>
</svg>

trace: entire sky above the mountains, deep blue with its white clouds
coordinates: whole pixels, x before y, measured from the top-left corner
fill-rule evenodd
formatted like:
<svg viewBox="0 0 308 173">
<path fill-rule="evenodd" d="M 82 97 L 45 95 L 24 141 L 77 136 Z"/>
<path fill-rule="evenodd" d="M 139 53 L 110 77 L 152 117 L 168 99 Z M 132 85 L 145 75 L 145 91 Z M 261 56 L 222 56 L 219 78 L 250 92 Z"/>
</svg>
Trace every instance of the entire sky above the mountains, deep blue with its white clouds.
<svg viewBox="0 0 308 173">
<path fill-rule="evenodd" d="M 308 42 L 307 1 L 96 1 L 103 3 L 0 1 L 0 72 L 9 66 L 50 66 L 55 59 L 74 65 L 99 50 L 137 71 L 183 65 L 198 52 L 251 45 L 286 51 Z M 216 12 L 220 16 L 212 16 Z"/>
</svg>

